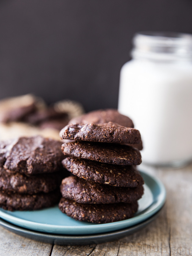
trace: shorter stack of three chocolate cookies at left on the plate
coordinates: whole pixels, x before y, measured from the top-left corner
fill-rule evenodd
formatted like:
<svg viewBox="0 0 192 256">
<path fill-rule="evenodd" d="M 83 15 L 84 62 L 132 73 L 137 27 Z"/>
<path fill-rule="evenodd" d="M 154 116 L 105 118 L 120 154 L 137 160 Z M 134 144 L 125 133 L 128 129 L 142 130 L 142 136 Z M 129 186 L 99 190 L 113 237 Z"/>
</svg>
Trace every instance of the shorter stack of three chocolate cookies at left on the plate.
<svg viewBox="0 0 192 256">
<path fill-rule="evenodd" d="M 0 143 L 0 207 L 36 210 L 59 202 L 61 142 L 41 136 Z"/>
</svg>

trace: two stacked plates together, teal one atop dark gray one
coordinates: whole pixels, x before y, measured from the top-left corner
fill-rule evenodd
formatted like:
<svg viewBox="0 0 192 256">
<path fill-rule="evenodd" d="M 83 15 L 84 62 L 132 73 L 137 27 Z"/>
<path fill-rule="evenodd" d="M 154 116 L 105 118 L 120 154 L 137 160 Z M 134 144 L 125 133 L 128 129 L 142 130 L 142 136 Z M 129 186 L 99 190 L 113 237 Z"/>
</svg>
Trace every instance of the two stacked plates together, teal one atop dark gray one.
<svg viewBox="0 0 192 256">
<path fill-rule="evenodd" d="M 157 178 L 142 172 L 144 195 L 131 219 L 93 224 L 76 221 L 63 214 L 58 206 L 37 211 L 9 212 L 0 209 L 0 225 L 30 239 L 53 244 L 103 243 L 129 235 L 148 225 L 165 203 L 165 187 Z"/>
</svg>

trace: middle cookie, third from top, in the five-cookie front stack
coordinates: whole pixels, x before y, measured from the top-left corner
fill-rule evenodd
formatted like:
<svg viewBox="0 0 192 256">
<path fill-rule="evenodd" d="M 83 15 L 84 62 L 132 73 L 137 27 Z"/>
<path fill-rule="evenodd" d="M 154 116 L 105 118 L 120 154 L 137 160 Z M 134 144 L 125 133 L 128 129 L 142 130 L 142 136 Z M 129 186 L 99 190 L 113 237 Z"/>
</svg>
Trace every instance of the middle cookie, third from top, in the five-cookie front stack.
<svg viewBox="0 0 192 256">
<path fill-rule="evenodd" d="M 115 187 L 137 187 L 144 184 L 133 165 L 111 165 L 74 157 L 65 158 L 62 164 L 69 172 L 89 181 Z"/>
</svg>

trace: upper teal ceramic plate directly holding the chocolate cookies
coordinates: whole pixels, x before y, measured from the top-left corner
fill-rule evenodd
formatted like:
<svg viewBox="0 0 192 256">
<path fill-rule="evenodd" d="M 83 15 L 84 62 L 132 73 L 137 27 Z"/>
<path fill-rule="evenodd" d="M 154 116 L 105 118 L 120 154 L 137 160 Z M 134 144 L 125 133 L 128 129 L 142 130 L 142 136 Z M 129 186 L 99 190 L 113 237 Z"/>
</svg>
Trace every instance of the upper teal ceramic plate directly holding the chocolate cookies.
<svg viewBox="0 0 192 256">
<path fill-rule="evenodd" d="M 145 182 L 144 195 L 138 201 L 138 211 L 131 219 L 105 224 L 80 222 L 62 213 L 58 206 L 23 212 L 0 209 L 0 217 L 26 229 L 62 235 L 91 235 L 125 229 L 150 218 L 165 203 L 166 191 L 161 181 L 145 172 L 140 173 Z"/>
</svg>

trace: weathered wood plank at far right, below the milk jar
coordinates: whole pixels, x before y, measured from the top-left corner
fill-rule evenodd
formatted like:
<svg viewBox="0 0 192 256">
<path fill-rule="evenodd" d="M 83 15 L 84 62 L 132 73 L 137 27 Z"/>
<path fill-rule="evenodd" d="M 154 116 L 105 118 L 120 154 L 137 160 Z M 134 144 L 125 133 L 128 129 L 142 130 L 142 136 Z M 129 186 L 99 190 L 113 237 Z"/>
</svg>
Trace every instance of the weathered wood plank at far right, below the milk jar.
<svg viewBox="0 0 192 256">
<path fill-rule="evenodd" d="M 167 190 L 170 255 L 192 255 L 192 165 L 159 169 Z"/>
</svg>

